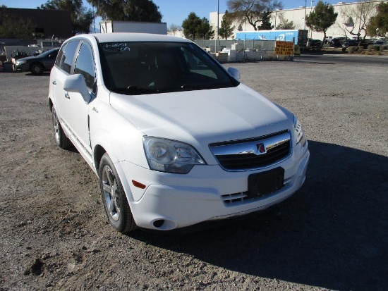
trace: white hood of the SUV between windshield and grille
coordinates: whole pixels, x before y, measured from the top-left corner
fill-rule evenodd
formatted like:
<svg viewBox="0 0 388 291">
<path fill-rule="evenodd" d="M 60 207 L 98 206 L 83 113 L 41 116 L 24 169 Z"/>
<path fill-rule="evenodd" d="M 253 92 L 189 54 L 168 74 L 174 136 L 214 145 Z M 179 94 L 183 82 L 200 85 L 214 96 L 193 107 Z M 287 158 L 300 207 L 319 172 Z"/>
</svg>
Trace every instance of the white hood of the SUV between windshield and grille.
<svg viewBox="0 0 388 291">
<path fill-rule="evenodd" d="M 145 135 L 187 142 L 197 149 L 292 126 L 289 111 L 242 84 L 137 96 L 111 93 L 110 103 Z"/>
</svg>

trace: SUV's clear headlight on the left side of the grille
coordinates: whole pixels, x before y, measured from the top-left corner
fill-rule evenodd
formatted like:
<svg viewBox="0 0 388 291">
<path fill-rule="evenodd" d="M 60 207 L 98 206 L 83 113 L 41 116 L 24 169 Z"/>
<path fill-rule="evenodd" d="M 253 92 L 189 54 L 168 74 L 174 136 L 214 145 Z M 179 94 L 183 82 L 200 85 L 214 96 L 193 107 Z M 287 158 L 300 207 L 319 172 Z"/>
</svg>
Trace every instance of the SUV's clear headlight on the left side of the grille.
<svg viewBox="0 0 388 291">
<path fill-rule="evenodd" d="M 194 165 L 205 165 L 205 161 L 189 144 L 158 137 L 144 137 L 143 142 L 151 170 L 187 174 Z"/>
</svg>

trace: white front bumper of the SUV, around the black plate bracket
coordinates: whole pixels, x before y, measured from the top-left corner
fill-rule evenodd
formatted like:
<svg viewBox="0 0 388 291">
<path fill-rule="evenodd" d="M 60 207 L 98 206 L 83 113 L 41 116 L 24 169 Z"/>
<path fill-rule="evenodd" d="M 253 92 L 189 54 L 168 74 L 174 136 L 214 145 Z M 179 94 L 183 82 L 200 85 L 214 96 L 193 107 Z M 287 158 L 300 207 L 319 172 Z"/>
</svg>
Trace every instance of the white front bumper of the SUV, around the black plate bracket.
<svg viewBox="0 0 388 291">
<path fill-rule="evenodd" d="M 228 172 L 219 166 L 195 166 L 187 175 L 178 175 L 150 171 L 126 161 L 116 168 L 125 181 L 123 186 L 136 224 L 152 230 L 173 230 L 242 216 L 283 201 L 303 185 L 309 159 L 306 142 L 304 147 L 299 144 L 294 148 L 289 159 L 260 171 Z M 280 190 L 254 199 L 238 198 L 248 190 L 250 174 L 279 166 L 284 168 L 284 186 Z M 134 187 L 131 180 L 147 187 Z"/>
</svg>

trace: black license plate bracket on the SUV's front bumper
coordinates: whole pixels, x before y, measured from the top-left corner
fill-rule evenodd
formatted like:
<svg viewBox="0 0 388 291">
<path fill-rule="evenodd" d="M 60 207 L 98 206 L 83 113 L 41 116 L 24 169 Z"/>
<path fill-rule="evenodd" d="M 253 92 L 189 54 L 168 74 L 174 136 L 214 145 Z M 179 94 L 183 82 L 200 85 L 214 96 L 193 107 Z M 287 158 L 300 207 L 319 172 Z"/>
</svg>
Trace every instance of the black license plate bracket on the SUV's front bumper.
<svg viewBox="0 0 388 291">
<path fill-rule="evenodd" d="M 260 197 L 275 192 L 284 184 L 284 168 L 278 167 L 248 176 L 248 197 Z"/>
</svg>

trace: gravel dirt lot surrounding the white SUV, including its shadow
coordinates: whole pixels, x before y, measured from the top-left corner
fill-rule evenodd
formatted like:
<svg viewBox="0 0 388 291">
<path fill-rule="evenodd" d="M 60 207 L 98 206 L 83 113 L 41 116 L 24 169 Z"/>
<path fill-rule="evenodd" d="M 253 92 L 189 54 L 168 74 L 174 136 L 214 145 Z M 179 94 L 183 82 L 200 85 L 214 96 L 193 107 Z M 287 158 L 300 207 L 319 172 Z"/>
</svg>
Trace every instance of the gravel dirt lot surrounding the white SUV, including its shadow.
<svg viewBox="0 0 388 291">
<path fill-rule="evenodd" d="M 0 73 L 0 290 L 387 290 L 387 65 L 233 66 L 299 117 L 308 177 L 265 213 L 181 235 L 116 233 L 95 174 L 54 144 L 49 75 Z"/>
</svg>

